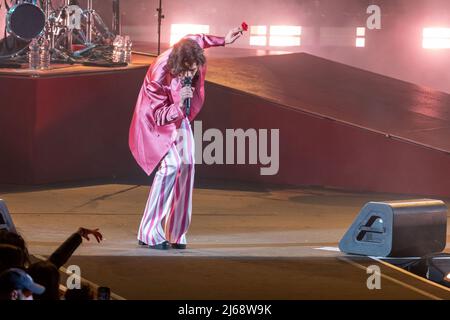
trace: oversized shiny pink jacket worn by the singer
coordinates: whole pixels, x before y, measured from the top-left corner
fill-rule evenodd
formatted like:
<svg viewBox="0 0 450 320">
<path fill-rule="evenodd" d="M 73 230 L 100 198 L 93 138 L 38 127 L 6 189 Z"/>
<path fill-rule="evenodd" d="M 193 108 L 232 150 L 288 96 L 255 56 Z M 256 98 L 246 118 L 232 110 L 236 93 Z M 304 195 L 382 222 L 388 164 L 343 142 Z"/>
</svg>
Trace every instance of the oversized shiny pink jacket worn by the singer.
<svg viewBox="0 0 450 320">
<path fill-rule="evenodd" d="M 188 35 L 204 49 L 225 45 L 224 37 Z M 128 144 L 139 166 L 150 175 L 175 141 L 177 128 L 185 117 L 179 108 L 181 83 L 164 67 L 172 49 L 163 52 L 150 66 L 131 121 Z M 192 121 L 205 100 L 206 65 L 198 71 L 191 101 Z"/>
</svg>

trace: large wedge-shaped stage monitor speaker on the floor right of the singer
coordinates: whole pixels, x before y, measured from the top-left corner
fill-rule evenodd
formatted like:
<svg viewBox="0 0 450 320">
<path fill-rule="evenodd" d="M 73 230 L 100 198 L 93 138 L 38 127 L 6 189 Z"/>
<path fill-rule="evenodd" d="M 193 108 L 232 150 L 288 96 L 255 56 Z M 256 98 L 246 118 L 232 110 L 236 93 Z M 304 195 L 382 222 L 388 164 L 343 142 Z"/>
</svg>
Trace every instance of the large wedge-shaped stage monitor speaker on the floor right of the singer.
<svg viewBox="0 0 450 320">
<path fill-rule="evenodd" d="M 369 202 L 339 242 L 349 254 L 422 257 L 444 250 L 447 207 L 440 200 Z"/>
</svg>

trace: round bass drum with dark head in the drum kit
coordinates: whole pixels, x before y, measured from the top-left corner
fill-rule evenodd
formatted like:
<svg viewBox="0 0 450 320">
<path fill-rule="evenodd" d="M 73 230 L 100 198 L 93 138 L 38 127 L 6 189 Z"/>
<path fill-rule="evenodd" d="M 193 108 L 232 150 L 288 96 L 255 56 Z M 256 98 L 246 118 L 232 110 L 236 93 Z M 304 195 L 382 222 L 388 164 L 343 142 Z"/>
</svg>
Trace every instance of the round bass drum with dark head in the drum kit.
<svg viewBox="0 0 450 320">
<path fill-rule="evenodd" d="M 28 2 L 16 4 L 6 14 L 6 30 L 21 40 L 30 41 L 44 33 L 45 14 Z"/>
</svg>

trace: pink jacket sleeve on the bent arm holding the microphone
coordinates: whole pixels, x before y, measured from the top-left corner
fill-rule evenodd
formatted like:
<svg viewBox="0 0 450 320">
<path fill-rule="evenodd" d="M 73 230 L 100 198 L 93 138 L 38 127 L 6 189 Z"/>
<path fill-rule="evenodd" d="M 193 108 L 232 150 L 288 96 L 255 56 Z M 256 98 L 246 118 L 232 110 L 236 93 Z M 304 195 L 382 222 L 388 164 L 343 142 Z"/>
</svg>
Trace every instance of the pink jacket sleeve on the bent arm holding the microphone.
<svg viewBox="0 0 450 320">
<path fill-rule="evenodd" d="M 183 111 L 174 103 L 171 103 L 168 93 L 156 81 L 151 80 L 145 90 L 150 107 L 153 110 L 153 117 L 158 126 L 176 122 L 184 117 Z"/>
</svg>

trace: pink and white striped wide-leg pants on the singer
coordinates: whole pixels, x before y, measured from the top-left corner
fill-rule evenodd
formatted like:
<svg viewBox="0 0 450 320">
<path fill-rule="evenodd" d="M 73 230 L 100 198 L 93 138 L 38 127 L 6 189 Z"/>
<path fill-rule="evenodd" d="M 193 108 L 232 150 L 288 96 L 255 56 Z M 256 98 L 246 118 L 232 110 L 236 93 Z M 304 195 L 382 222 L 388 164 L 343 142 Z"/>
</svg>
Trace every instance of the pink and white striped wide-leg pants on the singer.
<svg viewBox="0 0 450 320">
<path fill-rule="evenodd" d="M 164 241 L 186 244 L 192 215 L 194 187 L 194 137 L 186 118 L 177 130 L 177 138 L 161 160 L 156 172 L 138 240 L 149 245 Z"/>
</svg>

